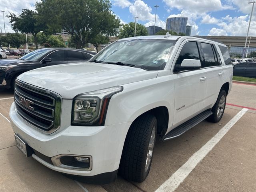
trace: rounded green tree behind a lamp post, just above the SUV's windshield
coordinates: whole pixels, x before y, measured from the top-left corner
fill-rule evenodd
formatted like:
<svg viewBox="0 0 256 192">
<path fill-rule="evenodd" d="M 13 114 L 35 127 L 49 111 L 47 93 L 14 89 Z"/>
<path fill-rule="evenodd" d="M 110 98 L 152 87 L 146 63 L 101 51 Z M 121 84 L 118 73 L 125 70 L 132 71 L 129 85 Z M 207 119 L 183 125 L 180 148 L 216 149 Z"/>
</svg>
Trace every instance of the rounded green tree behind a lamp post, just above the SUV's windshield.
<svg viewBox="0 0 256 192">
<path fill-rule="evenodd" d="M 118 35 L 119 38 L 127 38 L 127 37 L 134 37 L 134 30 L 135 30 L 135 23 L 130 22 L 128 24 L 124 24 L 120 28 L 120 34 Z M 142 24 L 136 24 L 136 36 L 146 36 L 148 35 L 148 31 L 146 27 Z"/>
</svg>

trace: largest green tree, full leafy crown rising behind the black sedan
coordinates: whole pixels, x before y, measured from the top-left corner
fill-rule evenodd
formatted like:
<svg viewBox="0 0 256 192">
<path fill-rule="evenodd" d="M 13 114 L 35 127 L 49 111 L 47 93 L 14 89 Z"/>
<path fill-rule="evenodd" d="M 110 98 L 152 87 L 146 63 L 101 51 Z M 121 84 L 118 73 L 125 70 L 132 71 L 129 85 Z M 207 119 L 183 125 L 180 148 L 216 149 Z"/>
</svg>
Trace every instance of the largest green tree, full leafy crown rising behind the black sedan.
<svg viewBox="0 0 256 192">
<path fill-rule="evenodd" d="M 98 34 L 117 34 L 120 19 L 110 8 L 110 0 L 43 0 L 36 3 L 39 19 L 47 23 L 49 30 L 66 30 L 79 49 Z"/>
</svg>

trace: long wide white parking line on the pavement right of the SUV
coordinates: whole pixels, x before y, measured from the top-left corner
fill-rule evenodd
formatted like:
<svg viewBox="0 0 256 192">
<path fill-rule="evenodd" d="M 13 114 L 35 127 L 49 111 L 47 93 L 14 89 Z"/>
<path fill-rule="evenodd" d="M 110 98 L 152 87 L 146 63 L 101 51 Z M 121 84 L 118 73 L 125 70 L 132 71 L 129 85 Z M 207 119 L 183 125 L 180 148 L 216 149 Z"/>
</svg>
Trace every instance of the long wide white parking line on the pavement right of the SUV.
<svg viewBox="0 0 256 192">
<path fill-rule="evenodd" d="M 166 180 L 155 192 L 173 192 L 186 179 L 196 165 L 214 148 L 221 138 L 232 126 L 246 113 L 243 108 L 234 116 L 213 138 L 211 138 L 200 150 L 195 152 L 188 161 L 182 165 L 168 180 Z"/>
</svg>

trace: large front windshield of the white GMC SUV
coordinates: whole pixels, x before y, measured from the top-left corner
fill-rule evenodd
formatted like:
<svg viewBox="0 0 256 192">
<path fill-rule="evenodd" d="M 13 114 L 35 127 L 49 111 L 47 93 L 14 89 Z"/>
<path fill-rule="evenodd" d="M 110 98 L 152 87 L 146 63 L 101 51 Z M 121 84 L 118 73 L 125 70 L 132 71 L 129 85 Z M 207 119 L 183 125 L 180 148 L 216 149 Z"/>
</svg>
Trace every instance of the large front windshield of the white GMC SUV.
<svg viewBox="0 0 256 192">
<path fill-rule="evenodd" d="M 163 70 L 176 40 L 133 39 L 110 44 L 90 61 L 123 63 L 146 70 Z"/>
</svg>

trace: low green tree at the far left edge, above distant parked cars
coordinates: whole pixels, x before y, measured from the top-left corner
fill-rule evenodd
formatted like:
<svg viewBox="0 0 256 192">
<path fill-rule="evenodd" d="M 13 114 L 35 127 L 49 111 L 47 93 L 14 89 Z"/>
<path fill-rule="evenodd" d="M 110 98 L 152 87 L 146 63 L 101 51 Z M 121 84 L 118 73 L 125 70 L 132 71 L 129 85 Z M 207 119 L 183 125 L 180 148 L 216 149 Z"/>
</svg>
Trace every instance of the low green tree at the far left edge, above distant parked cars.
<svg viewBox="0 0 256 192">
<path fill-rule="evenodd" d="M 20 33 L 6 33 L 5 36 L 1 37 L 1 43 L 3 43 L 4 46 L 10 44 L 10 46 L 18 49 L 26 43 L 26 35 Z"/>
</svg>

